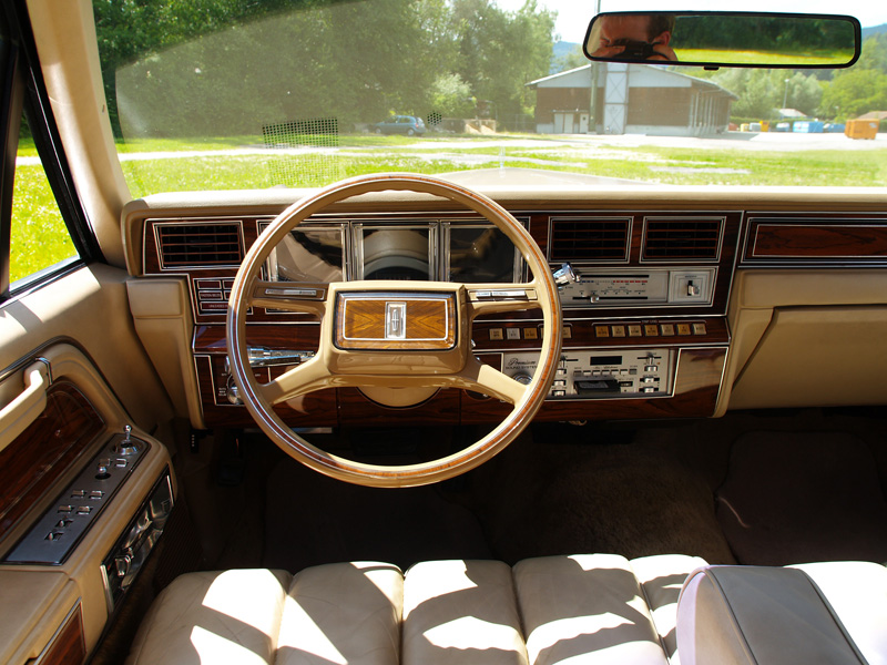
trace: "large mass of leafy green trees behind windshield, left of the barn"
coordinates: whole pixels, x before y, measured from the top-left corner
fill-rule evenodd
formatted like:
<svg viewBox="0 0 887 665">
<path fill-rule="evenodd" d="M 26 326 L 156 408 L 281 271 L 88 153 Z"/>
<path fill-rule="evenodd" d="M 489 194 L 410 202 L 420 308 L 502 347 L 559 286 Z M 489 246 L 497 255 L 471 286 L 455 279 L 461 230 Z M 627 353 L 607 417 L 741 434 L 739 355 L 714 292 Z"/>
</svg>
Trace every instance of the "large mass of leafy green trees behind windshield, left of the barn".
<svg viewBox="0 0 887 665">
<path fill-rule="evenodd" d="M 94 13 L 116 135 L 315 117 L 347 131 L 390 112 L 467 114 L 468 98 L 504 119 L 532 108 L 526 83 L 548 74 L 554 23 L 536 0 L 514 12 L 492 0 L 96 0 Z"/>
</svg>

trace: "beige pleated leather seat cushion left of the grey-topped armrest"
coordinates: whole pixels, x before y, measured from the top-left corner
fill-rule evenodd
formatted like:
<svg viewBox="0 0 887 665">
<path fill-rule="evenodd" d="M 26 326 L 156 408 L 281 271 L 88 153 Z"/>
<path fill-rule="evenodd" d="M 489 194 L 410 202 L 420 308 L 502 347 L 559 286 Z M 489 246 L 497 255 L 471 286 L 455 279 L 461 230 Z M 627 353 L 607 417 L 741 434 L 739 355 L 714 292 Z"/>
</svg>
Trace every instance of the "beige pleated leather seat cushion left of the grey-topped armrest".
<svg viewBox="0 0 887 665">
<path fill-rule="evenodd" d="M 381 563 L 194 573 L 157 597 L 128 663 L 664 664 L 681 584 L 702 564 L 594 554 L 406 575 Z"/>
</svg>

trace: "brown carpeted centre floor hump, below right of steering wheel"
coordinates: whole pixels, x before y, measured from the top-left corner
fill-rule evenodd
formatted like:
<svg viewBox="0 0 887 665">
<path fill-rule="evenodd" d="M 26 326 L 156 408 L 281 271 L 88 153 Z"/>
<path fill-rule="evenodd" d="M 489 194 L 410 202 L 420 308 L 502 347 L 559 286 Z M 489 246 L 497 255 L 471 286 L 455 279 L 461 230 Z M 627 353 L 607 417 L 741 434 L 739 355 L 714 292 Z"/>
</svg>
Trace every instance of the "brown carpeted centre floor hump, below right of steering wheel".
<svg viewBox="0 0 887 665">
<path fill-rule="evenodd" d="M 539 427 L 479 470 L 497 557 L 679 553 L 732 563 L 706 483 L 665 451 L 613 438 Z"/>
</svg>

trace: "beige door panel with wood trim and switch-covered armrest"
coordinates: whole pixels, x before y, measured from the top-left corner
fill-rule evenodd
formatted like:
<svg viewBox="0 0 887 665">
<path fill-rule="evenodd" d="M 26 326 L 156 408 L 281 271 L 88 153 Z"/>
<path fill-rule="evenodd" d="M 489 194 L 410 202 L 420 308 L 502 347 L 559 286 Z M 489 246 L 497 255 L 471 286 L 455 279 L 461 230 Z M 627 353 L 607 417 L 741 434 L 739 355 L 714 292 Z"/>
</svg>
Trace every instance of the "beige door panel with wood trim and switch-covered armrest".
<svg viewBox="0 0 887 665">
<path fill-rule="evenodd" d="M 95 270 L 86 273 L 92 279 L 96 277 Z M 83 280 L 89 282 L 85 275 L 79 275 L 70 280 L 69 286 Z M 104 368 L 93 364 L 96 357 L 126 352 L 126 361 L 108 366 L 108 375 L 123 375 L 126 380 L 121 382 L 121 393 L 128 395 L 137 395 L 139 381 L 145 379 L 149 388 L 144 393 L 145 400 L 135 405 L 133 412 L 144 412 L 151 420 L 169 412 L 165 398 L 157 399 L 151 395 L 151 383 L 156 381 L 151 372 L 145 371 L 141 351 L 132 335 L 125 334 L 126 326 L 106 325 L 108 334 L 99 338 L 96 329 L 100 324 L 85 326 L 81 323 L 89 315 L 98 317 L 103 306 L 120 306 L 119 294 L 125 293 L 122 282 L 104 279 L 102 285 L 111 293 L 110 297 L 99 297 L 84 289 L 79 293 L 81 299 L 72 297 L 71 303 L 60 307 L 54 317 L 49 316 L 44 303 L 38 306 L 33 299 L 30 299 L 30 308 L 20 303 L 16 317 L 3 317 L 6 332 L 13 323 L 21 321 L 26 314 L 30 315 L 33 332 L 29 339 L 33 342 L 58 337 L 58 327 L 64 327 L 72 340 L 57 339 L 40 346 L 37 352 L 29 350 L 13 369 L 6 372 L 0 385 L 4 396 L 20 391 L 26 382 L 33 386 L 35 392 L 48 390 L 42 395 L 42 402 L 47 403 L 42 412 L 37 412 L 35 408 L 19 408 L 13 409 L 14 417 L 7 419 L 13 427 L 24 422 L 26 429 L 21 433 L 12 436 L 12 430 L 0 431 L 0 441 L 3 442 L 0 447 L 0 487 L 3 488 L 0 503 L 2 663 L 24 664 L 41 653 L 51 653 L 53 648 L 65 649 L 65 653 L 73 649 L 70 653 L 74 654 L 74 659 L 70 662 L 80 662 L 79 654 L 91 652 L 108 624 L 111 611 L 120 606 L 118 596 L 109 600 L 111 592 L 106 591 L 109 586 L 105 583 L 108 562 L 116 561 L 114 553 L 120 549 L 121 539 L 133 533 L 134 516 L 143 510 L 147 497 L 159 483 L 169 482 L 171 491 L 175 491 L 175 477 L 172 475 L 165 446 L 143 431 L 137 421 L 134 422 L 105 381 Z M 77 311 L 80 307 L 83 310 Z M 126 316 L 125 309 L 118 311 Z M 103 316 L 108 318 L 110 313 Z M 77 340 L 73 339 L 75 336 Z M 16 335 L 11 339 L 21 344 L 20 337 Z M 81 345 L 90 347 L 92 358 L 79 348 Z M 102 345 L 108 347 L 106 352 L 100 348 Z M 4 346 L 3 350 L 7 348 Z M 47 368 L 45 375 L 34 369 L 34 364 L 28 362 L 33 356 L 41 358 L 38 365 Z M 121 367 L 133 371 L 122 372 Z M 28 379 L 23 379 L 26 372 L 30 374 Z M 26 401 L 37 403 L 41 400 L 29 398 Z M 161 408 L 155 408 L 157 403 Z M 140 449 L 136 453 L 116 447 L 124 439 L 124 426 L 130 423 L 134 426 L 131 443 Z M 105 457 L 109 462 L 101 461 Z M 109 469 L 113 467 L 104 478 L 100 478 L 102 464 Z M 91 491 L 78 494 L 73 489 L 78 487 L 95 488 L 100 495 L 93 497 Z M 171 510 L 174 493 L 169 497 Z M 69 505 L 65 508 L 65 504 Z M 166 514 L 163 515 L 164 522 Z M 152 525 L 150 522 L 149 526 Z M 163 525 L 157 524 L 162 533 Z M 48 530 L 53 538 L 44 536 Z M 142 555 L 140 561 L 143 561 L 155 541 L 151 541 L 145 550 L 144 539 L 132 538 L 132 549 Z M 53 541 L 62 548 L 54 562 L 19 555 L 22 548 L 28 553 L 55 548 Z"/>
</svg>

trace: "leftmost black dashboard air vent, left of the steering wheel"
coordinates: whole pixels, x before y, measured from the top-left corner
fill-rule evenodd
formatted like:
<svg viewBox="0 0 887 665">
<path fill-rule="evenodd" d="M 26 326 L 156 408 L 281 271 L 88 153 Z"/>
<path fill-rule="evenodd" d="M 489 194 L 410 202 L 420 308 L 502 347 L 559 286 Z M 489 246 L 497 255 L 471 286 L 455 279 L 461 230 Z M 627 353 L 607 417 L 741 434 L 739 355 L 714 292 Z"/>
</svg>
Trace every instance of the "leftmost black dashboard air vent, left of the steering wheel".
<svg viewBox="0 0 887 665">
<path fill-rule="evenodd" d="M 157 249 L 164 269 L 236 266 L 243 259 L 237 222 L 157 225 Z"/>
</svg>

